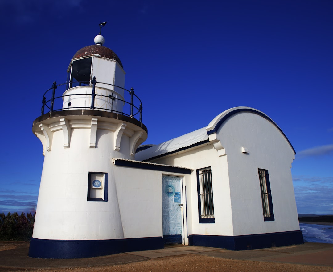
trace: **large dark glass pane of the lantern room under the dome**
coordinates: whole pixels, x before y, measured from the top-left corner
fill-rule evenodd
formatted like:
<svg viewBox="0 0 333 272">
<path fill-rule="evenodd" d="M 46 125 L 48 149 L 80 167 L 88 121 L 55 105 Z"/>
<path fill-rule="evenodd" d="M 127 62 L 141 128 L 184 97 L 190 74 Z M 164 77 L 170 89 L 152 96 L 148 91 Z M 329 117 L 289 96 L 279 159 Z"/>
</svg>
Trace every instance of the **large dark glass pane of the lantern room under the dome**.
<svg viewBox="0 0 333 272">
<path fill-rule="evenodd" d="M 74 60 L 72 63 L 70 88 L 89 85 L 92 57 Z"/>
</svg>

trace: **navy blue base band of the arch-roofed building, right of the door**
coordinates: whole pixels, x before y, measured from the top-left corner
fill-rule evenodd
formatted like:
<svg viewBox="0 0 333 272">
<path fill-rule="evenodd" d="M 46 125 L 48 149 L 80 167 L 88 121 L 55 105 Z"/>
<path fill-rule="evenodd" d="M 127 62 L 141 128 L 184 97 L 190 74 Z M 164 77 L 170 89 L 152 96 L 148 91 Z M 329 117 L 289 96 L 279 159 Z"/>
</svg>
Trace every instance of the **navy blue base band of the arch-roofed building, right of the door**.
<svg viewBox="0 0 333 272">
<path fill-rule="evenodd" d="M 246 250 L 303 244 L 303 233 L 300 230 L 273 232 L 239 236 L 195 235 L 188 236 L 189 245 Z"/>
</svg>

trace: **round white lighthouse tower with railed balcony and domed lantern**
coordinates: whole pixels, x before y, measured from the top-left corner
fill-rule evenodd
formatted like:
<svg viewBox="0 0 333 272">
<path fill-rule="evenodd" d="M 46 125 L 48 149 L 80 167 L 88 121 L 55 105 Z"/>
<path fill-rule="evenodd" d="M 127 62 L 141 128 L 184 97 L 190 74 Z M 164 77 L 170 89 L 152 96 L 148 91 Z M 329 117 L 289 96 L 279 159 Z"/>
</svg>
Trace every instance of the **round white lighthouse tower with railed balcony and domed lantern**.
<svg viewBox="0 0 333 272">
<path fill-rule="evenodd" d="M 75 53 L 67 84 L 54 83 L 44 94 L 42 115 L 33 122 L 45 157 L 31 257 L 107 255 L 123 252 L 128 242 L 112 158 L 133 159 L 147 128 L 141 101 L 124 89 L 120 59 L 103 43 L 98 35 L 95 45 Z"/>
</svg>

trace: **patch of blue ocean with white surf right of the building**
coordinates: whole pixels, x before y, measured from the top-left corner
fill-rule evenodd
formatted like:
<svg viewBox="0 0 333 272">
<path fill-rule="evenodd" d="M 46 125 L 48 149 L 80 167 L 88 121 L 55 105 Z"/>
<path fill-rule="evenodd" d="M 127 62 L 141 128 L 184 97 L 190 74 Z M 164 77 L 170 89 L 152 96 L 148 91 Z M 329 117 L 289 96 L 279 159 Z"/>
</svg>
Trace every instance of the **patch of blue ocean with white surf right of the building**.
<svg viewBox="0 0 333 272">
<path fill-rule="evenodd" d="M 299 224 L 304 242 L 333 244 L 333 225 Z"/>
</svg>

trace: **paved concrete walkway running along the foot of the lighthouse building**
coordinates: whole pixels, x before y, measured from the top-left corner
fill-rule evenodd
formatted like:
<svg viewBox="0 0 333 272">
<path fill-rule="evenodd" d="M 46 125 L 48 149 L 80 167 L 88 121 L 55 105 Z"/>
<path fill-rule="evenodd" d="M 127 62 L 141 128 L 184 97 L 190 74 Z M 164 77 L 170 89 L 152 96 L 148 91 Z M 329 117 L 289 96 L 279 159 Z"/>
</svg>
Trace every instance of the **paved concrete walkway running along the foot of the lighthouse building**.
<svg viewBox="0 0 333 272">
<path fill-rule="evenodd" d="M 5 242 L 2 242 L 5 243 Z M 7 242 L 11 243 L 11 242 Z M 15 245 L 15 242 L 12 242 Z M 166 246 L 164 249 L 126 252 L 83 259 L 36 259 L 28 257 L 29 243 L 16 242 L 13 249 L 0 251 L 0 271 L 38 268 L 92 267 L 131 263 L 166 256 L 200 254 L 218 258 L 307 264 L 333 267 L 333 244 L 305 243 L 285 247 L 231 251 L 201 246 Z"/>
</svg>

